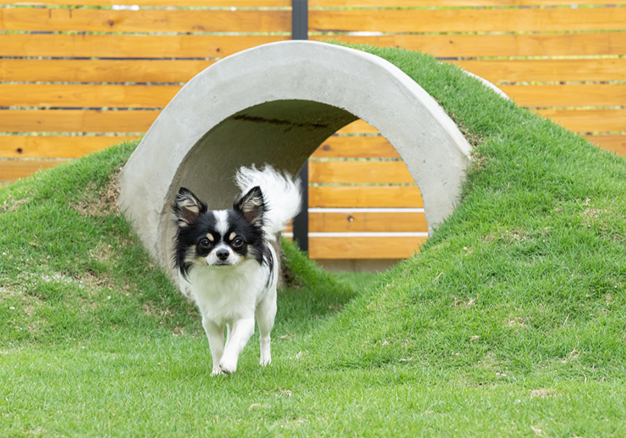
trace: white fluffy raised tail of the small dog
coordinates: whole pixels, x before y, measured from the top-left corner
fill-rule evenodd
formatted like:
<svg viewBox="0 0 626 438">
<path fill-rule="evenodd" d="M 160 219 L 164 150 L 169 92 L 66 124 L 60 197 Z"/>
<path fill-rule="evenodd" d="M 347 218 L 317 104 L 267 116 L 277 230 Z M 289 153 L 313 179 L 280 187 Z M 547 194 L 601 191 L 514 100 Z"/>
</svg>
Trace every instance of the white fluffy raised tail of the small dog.
<svg viewBox="0 0 626 438">
<path fill-rule="evenodd" d="M 241 193 L 245 194 L 256 186 L 261 188 L 267 211 L 264 216 L 263 231 L 270 240 L 275 240 L 276 233 L 284 229 L 287 222 L 300 211 L 300 179 L 294 179 L 289 173 L 279 173 L 271 165 L 264 165 L 262 170 L 241 167 L 235 182 Z"/>
</svg>

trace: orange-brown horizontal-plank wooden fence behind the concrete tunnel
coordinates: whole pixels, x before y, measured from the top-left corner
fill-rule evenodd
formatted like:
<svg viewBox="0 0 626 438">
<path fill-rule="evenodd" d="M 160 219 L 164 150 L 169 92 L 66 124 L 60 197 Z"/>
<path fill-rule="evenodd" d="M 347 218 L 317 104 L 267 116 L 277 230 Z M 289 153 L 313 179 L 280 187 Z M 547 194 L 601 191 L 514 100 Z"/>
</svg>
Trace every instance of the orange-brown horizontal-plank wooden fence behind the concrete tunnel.
<svg viewBox="0 0 626 438">
<path fill-rule="evenodd" d="M 302 0 L 294 0 L 302 1 Z M 219 58 L 291 39 L 291 0 L 0 5 L 0 184 L 139 138 Z M 383 6 L 381 6 L 383 5 Z M 309 0 L 309 38 L 434 54 L 626 155 L 626 0 Z M 358 121 L 312 155 L 313 259 L 408 257 L 419 188 Z"/>
</svg>

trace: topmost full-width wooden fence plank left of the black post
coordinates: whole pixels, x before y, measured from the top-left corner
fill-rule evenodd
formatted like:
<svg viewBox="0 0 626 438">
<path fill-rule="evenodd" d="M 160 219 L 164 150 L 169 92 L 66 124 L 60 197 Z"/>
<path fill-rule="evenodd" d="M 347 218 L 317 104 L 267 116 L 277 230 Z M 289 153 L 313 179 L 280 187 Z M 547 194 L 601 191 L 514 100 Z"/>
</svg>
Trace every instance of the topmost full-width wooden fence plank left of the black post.
<svg viewBox="0 0 626 438">
<path fill-rule="evenodd" d="M 0 8 L 0 31 L 291 32 L 291 11 Z"/>
</svg>

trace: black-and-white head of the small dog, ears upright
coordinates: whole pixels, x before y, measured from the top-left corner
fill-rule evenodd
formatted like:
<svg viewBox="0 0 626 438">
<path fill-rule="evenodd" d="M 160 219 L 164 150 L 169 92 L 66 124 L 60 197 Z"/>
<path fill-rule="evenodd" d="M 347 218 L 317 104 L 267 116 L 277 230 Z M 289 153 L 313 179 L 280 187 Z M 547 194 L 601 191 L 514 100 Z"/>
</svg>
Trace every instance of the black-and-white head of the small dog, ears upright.
<svg viewBox="0 0 626 438">
<path fill-rule="evenodd" d="M 243 259 L 262 263 L 266 204 L 259 187 L 238 197 L 231 210 L 208 210 L 191 190 L 180 188 L 172 203 L 177 233 L 174 264 L 183 275 L 193 266 L 223 268 Z"/>
</svg>

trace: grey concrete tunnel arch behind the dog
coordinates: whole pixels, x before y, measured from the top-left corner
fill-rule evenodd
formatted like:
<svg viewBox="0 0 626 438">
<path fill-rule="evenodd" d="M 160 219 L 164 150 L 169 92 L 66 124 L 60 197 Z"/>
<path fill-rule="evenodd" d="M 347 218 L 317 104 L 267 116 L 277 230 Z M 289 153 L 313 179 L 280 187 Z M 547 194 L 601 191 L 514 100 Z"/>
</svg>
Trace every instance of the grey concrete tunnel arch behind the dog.
<svg viewBox="0 0 626 438">
<path fill-rule="evenodd" d="M 122 211 L 169 264 L 169 206 L 179 186 L 229 208 L 240 165 L 291 173 L 338 129 L 376 127 L 422 190 L 428 231 L 451 213 L 470 145 L 415 81 L 362 51 L 311 41 L 264 44 L 200 72 L 152 124 L 120 175 Z"/>
</svg>

